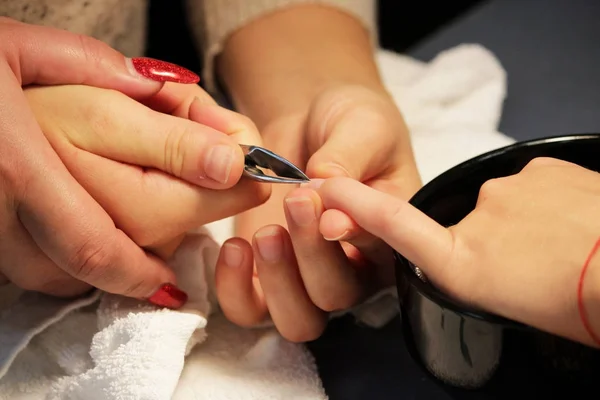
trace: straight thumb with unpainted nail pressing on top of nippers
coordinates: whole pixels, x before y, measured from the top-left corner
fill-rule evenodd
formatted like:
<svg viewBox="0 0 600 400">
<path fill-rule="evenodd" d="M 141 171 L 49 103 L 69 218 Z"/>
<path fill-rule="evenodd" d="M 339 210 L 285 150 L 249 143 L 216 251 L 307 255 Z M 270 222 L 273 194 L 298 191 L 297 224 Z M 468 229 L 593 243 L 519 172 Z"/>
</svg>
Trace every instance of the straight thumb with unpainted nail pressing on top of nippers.
<svg viewBox="0 0 600 400">
<path fill-rule="evenodd" d="M 51 101 L 60 95 L 62 101 Z M 230 188 L 240 179 L 244 154 L 235 140 L 209 126 L 155 112 L 124 95 L 81 86 L 27 90 L 44 132 L 55 130 L 76 147 L 127 164 L 156 168 L 198 186 Z M 90 101 L 93 98 L 93 101 Z M 65 104 L 81 104 L 78 113 Z M 69 115 L 70 113 L 71 119 Z M 75 119 L 75 120 L 74 120 Z M 78 120 L 79 119 L 79 120 Z"/>
</svg>

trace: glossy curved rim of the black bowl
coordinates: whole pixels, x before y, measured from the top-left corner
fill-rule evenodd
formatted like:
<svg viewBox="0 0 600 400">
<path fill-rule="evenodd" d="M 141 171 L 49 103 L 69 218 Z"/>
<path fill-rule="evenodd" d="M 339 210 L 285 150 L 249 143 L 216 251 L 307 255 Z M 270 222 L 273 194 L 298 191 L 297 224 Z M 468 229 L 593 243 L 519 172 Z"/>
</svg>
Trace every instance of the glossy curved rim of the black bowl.
<svg viewBox="0 0 600 400">
<path fill-rule="evenodd" d="M 473 166 L 473 164 L 478 164 L 485 160 L 499 157 L 502 154 L 513 151 L 515 149 L 525 148 L 525 147 L 533 147 L 546 145 L 550 143 L 564 143 L 564 142 L 574 142 L 574 141 L 585 141 L 585 140 L 598 140 L 600 139 L 600 133 L 575 133 L 568 135 L 556 135 L 556 136 L 547 136 L 539 139 L 531 139 L 525 140 L 522 142 L 516 142 L 504 147 L 500 147 L 495 150 L 488 151 L 486 153 L 480 154 L 476 157 L 470 158 L 449 170 L 441 173 L 431 181 L 429 181 L 425 186 L 423 186 L 415 195 L 410 199 L 410 203 L 419 208 L 419 204 L 427 199 L 429 196 L 433 195 L 436 191 L 437 186 L 443 183 L 444 185 L 451 184 L 453 181 L 460 179 L 463 176 L 463 171 L 465 169 L 469 169 Z M 420 294 L 427 297 L 429 300 L 438 304 L 443 308 L 447 308 L 452 310 L 453 312 L 463 315 L 465 317 L 470 317 L 478 320 L 483 320 L 489 323 L 503 325 L 505 327 L 518 328 L 518 329 L 535 329 L 529 325 L 522 324 L 520 322 L 501 317 L 497 314 L 493 314 L 487 311 L 478 310 L 475 308 L 471 308 L 468 306 L 463 306 L 458 304 L 456 301 L 451 299 L 449 296 L 444 293 L 436 290 L 432 285 L 425 284 L 412 270 L 411 263 L 407 260 L 402 254 L 395 252 L 396 257 L 398 257 L 399 261 L 402 261 L 402 275 L 408 280 L 408 283 L 414 286 Z M 397 268 L 398 270 L 398 268 Z"/>
</svg>

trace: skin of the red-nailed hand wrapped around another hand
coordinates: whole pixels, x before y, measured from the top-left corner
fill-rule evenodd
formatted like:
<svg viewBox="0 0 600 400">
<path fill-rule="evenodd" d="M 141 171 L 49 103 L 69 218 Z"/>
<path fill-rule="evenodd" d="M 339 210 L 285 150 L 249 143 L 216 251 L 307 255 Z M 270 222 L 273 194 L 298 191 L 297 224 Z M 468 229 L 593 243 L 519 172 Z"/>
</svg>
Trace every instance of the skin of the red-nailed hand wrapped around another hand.
<svg viewBox="0 0 600 400">
<path fill-rule="evenodd" d="M 82 84 L 146 99 L 166 78 L 148 79 L 151 71 L 140 72 L 134 60 L 95 39 L 8 18 L 0 18 L 0 43 L 0 270 L 58 268 L 63 273 L 47 290 L 37 279 L 23 278 L 23 287 L 49 293 L 76 277 L 109 292 L 151 296 L 173 281 L 172 272 L 117 228 L 69 173 L 23 87 Z M 0 281 L 7 281 L 1 273 Z M 76 294 L 84 286 L 56 294 Z"/>
</svg>

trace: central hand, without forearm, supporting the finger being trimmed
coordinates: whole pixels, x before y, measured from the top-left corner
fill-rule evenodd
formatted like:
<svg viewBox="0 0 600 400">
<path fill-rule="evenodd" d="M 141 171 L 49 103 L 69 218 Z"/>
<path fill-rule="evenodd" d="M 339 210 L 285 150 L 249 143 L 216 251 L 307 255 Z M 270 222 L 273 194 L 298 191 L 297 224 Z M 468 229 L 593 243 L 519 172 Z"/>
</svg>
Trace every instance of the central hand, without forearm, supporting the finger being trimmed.
<svg viewBox="0 0 600 400">
<path fill-rule="evenodd" d="M 311 178 L 348 176 L 404 199 L 420 187 L 406 125 L 383 90 L 333 86 L 314 98 L 306 115 L 282 118 L 261 133 L 269 149 L 306 165 Z M 356 305 L 393 275 L 358 274 L 360 252 L 344 237 L 324 240 L 320 211 L 292 189 L 276 186 L 268 202 L 236 217 L 241 238 L 223 247 L 217 293 L 231 321 L 251 326 L 270 314 L 284 337 L 307 341 L 323 332 L 329 312 Z M 241 266 L 240 252 L 246 254 Z M 254 279 L 246 269 L 253 261 Z"/>
</svg>

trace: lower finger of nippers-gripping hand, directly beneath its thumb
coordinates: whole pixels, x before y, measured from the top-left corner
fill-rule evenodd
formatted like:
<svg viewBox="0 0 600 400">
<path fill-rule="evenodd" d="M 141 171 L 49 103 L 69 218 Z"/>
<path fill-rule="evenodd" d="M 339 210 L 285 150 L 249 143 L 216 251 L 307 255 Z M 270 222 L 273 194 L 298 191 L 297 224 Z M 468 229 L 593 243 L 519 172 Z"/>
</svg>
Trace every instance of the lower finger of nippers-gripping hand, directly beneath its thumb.
<svg viewBox="0 0 600 400">
<path fill-rule="evenodd" d="M 58 146 L 56 151 L 116 226 L 145 248 L 260 205 L 270 193 L 269 185 L 250 179 L 241 179 L 230 189 L 211 190 L 83 150 L 75 149 L 72 156 L 66 155 L 72 148 Z"/>
</svg>

